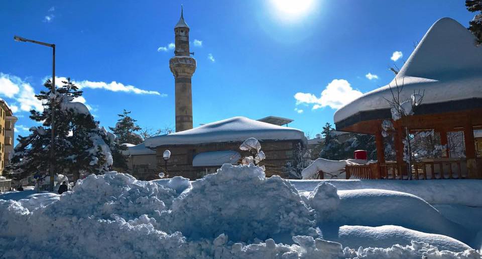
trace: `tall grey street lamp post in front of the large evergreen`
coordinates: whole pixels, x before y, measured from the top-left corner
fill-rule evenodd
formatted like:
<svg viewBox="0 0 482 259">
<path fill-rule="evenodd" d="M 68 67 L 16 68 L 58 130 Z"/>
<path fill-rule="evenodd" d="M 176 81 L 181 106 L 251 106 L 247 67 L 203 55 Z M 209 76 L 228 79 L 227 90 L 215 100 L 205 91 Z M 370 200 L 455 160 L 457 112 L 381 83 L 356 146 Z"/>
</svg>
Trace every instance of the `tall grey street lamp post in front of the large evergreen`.
<svg viewBox="0 0 482 259">
<path fill-rule="evenodd" d="M 55 44 L 50 44 L 50 43 L 45 43 L 45 42 L 40 42 L 40 41 L 34 41 L 34 40 L 29 40 L 25 39 L 19 36 L 14 36 L 15 41 L 21 41 L 21 42 L 31 42 L 47 47 L 52 48 L 52 94 L 55 94 Z M 55 95 L 54 99 L 52 99 L 51 104 L 51 111 L 52 111 L 52 119 L 51 119 L 51 136 L 50 136 L 50 191 L 54 191 L 54 157 L 55 157 L 55 134 L 54 134 L 54 125 L 55 125 Z"/>
</svg>

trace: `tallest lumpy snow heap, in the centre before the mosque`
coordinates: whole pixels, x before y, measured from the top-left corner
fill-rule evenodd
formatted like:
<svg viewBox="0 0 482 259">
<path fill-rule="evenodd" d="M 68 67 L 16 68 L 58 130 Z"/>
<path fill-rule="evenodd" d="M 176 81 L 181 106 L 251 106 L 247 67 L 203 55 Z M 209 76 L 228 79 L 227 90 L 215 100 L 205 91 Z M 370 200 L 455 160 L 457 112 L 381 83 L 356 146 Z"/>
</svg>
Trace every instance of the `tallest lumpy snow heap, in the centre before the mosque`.
<svg viewBox="0 0 482 259">
<path fill-rule="evenodd" d="M 198 239 L 227 234 L 233 241 L 256 238 L 290 241 L 314 232 L 311 212 L 298 191 L 281 177 L 265 178 L 260 167 L 224 164 L 217 173 L 192 183 L 161 214 L 163 229 Z M 186 220 L 189 219 L 189 220 Z"/>
</svg>

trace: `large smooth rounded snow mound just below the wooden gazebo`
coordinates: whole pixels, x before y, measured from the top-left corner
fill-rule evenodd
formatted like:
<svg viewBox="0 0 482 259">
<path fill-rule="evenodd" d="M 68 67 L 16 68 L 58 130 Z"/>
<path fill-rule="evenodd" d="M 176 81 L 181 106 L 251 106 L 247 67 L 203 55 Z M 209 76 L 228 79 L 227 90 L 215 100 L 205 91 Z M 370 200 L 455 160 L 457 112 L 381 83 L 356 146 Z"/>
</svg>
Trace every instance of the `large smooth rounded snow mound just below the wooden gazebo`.
<svg viewBox="0 0 482 259">
<path fill-rule="evenodd" d="M 465 242 L 475 235 L 412 194 L 375 189 L 340 191 L 338 194 L 340 205 L 332 219 L 339 225 L 397 225 Z"/>
</svg>

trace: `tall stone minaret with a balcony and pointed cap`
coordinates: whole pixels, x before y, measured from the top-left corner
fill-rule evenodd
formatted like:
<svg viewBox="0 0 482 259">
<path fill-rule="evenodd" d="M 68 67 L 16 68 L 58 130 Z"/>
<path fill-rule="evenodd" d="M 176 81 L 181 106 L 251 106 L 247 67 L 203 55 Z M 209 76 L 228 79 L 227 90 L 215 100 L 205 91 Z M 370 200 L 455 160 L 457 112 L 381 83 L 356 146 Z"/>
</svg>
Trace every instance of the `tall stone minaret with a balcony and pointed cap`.
<svg viewBox="0 0 482 259">
<path fill-rule="evenodd" d="M 184 22 L 181 6 L 181 19 L 174 26 L 174 57 L 169 60 L 169 68 L 176 81 L 176 132 L 192 128 L 191 77 L 196 71 L 196 60 L 189 52 L 189 26 Z M 192 53 L 194 54 L 194 53 Z"/>
</svg>

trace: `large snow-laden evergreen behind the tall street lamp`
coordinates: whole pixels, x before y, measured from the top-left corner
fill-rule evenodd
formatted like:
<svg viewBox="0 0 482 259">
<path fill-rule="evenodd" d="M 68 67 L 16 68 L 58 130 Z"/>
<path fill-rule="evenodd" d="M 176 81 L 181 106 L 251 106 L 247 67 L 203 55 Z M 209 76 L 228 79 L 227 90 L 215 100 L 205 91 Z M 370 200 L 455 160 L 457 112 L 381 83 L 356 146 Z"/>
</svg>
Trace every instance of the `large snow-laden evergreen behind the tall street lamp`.
<svg viewBox="0 0 482 259">
<path fill-rule="evenodd" d="M 73 102 L 82 91 L 70 79 L 62 83 L 64 85 L 52 94 L 49 80 L 45 84 L 49 90 L 36 95 L 44 102 L 44 110 L 32 110 L 30 118 L 43 121 L 43 126 L 30 128 L 28 137 L 19 137 L 19 145 L 15 147 L 8 168 L 16 179 L 49 172 L 51 130 L 48 127 L 51 126 L 52 102 L 55 109 L 54 172 L 72 172 L 76 180 L 80 172 L 100 174 L 110 170 L 112 156 L 107 132 L 99 128 L 84 104 Z"/>
</svg>

